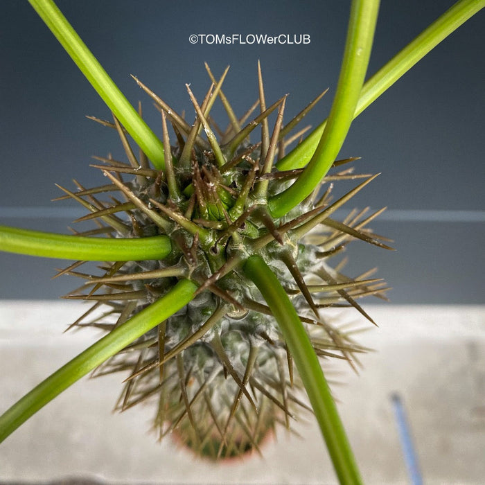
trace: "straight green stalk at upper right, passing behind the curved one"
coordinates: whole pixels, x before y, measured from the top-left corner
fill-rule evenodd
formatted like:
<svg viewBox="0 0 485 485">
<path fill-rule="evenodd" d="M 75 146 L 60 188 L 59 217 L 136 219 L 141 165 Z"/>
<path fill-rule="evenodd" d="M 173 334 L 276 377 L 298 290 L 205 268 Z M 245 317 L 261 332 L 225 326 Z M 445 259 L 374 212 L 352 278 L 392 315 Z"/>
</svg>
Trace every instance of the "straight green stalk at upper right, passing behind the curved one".
<svg viewBox="0 0 485 485">
<path fill-rule="evenodd" d="M 423 59 L 443 39 L 485 7 L 485 0 L 460 0 L 436 19 L 429 27 L 407 44 L 384 67 L 379 69 L 362 87 L 360 98 L 355 108 L 354 118 L 369 107 L 381 94 L 394 85 L 414 64 Z M 308 164 L 317 148 L 327 120 L 315 128 L 307 137 L 277 164 L 279 170 L 303 168 Z"/>
</svg>

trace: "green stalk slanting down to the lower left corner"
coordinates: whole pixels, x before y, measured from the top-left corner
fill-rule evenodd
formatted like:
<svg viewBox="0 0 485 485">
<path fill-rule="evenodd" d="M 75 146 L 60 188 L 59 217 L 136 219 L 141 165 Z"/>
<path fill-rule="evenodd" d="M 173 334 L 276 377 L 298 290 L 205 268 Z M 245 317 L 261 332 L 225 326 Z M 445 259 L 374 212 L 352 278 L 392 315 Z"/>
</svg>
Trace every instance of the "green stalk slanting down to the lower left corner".
<svg viewBox="0 0 485 485">
<path fill-rule="evenodd" d="M 191 281 L 180 281 L 164 297 L 141 310 L 42 381 L 0 416 L 0 442 L 76 380 L 186 306 L 193 299 L 195 290 L 197 286 Z"/>
</svg>

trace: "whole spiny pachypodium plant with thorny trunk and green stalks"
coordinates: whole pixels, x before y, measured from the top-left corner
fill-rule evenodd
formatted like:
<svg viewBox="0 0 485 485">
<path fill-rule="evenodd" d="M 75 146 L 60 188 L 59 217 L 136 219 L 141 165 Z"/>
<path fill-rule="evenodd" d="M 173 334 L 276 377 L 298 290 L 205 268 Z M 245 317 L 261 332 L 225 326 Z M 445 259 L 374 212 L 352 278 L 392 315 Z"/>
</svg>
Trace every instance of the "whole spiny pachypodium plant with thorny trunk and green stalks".
<svg viewBox="0 0 485 485">
<path fill-rule="evenodd" d="M 385 284 L 370 274 L 345 276 L 328 260 L 355 238 L 389 247 L 367 229 L 381 211 L 333 218 L 376 177 L 344 166 L 355 159 L 335 158 L 353 118 L 485 2 L 457 2 L 364 85 L 378 1 L 353 0 L 333 107 L 304 140 L 305 130 L 293 130 L 323 94 L 283 123 L 285 97 L 267 106 L 259 67 L 258 103 L 243 118 L 222 92 L 227 70 L 217 80 L 206 67 L 212 84 L 201 103 L 187 86 L 192 125 L 135 78 L 161 112 L 159 140 L 55 4 L 30 3 L 112 110 L 113 121 L 96 121 L 118 132 L 127 163 L 100 157 L 102 185 L 62 188 L 88 209 L 81 220 L 96 221 L 96 229 L 61 236 L 0 227 L 5 251 L 76 261 L 60 274 L 85 284 L 68 297 L 93 305 L 73 326 L 108 330 L 0 416 L 0 439 L 96 369 L 96 375 L 127 373 L 118 409 L 157 402 L 160 436 L 175 432 L 202 456 L 237 456 L 258 450 L 268 430 L 288 427 L 298 409 L 308 408 L 298 393 L 303 387 L 340 481 L 359 483 L 318 359 L 355 365 L 364 349 L 321 309 L 353 306 L 372 321 L 356 299 L 383 297 Z M 209 116 L 218 98 L 229 117 L 223 132 Z M 250 139 L 256 128 L 257 143 Z M 363 180 L 331 200 L 333 182 L 342 179 Z M 102 273 L 83 272 L 87 261 L 101 261 Z"/>
</svg>

